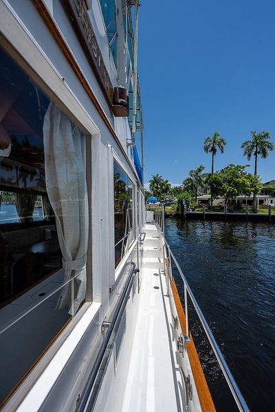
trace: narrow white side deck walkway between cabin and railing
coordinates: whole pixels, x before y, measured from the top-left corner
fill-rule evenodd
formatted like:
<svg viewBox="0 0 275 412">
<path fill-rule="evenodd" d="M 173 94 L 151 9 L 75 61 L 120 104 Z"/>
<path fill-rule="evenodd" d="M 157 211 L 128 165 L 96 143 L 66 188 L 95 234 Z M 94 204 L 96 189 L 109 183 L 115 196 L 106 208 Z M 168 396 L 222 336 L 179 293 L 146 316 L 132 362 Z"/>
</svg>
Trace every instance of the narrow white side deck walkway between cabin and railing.
<svg viewBox="0 0 275 412">
<path fill-rule="evenodd" d="M 161 271 L 162 245 L 155 225 L 146 225 L 144 229 L 141 300 L 122 411 L 179 411 L 180 376 L 175 371 L 170 305 L 166 277 Z"/>
</svg>

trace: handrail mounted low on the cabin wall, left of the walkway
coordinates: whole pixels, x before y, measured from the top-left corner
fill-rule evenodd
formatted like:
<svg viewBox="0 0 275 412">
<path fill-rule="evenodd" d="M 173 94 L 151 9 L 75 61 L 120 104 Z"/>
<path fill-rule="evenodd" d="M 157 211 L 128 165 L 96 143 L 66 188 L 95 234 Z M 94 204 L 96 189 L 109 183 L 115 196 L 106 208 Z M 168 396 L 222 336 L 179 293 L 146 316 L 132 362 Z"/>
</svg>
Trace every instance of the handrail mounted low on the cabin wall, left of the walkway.
<svg viewBox="0 0 275 412">
<path fill-rule="evenodd" d="M 118 305 L 115 308 L 115 313 L 113 314 L 113 320 L 111 321 L 111 323 L 104 322 L 104 324 L 108 324 L 109 328 L 105 336 L 105 339 L 102 343 L 100 352 L 98 354 L 96 364 L 93 366 L 93 369 L 87 381 L 87 386 L 83 393 L 83 397 L 82 399 L 80 399 L 80 404 L 78 406 L 78 412 L 94 411 L 96 400 L 98 398 L 98 393 L 102 385 L 102 380 L 104 378 L 104 374 L 107 370 L 107 367 L 109 365 L 109 361 L 111 358 L 111 354 L 113 352 L 113 346 L 115 343 L 115 335 L 118 332 L 118 328 L 120 327 L 120 320 L 122 319 L 122 315 L 124 313 L 126 304 L 128 302 L 128 296 L 129 296 L 129 293 L 131 292 L 134 275 L 138 271 L 138 269 L 135 268 L 134 262 L 131 262 L 131 265 L 132 265 L 131 273 L 129 274 L 129 277 L 126 281 L 126 285 L 124 286 L 124 290 L 122 292 Z"/>
</svg>

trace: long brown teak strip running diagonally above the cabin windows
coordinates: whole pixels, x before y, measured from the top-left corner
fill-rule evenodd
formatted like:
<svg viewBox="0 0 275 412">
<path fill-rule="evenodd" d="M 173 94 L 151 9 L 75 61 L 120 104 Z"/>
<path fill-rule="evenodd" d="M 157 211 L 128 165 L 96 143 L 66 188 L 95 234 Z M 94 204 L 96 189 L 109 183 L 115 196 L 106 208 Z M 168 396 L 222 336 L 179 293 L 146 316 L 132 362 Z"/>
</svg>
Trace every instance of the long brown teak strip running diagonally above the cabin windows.
<svg viewBox="0 0 275 412">
<path fill-rule="evenodd" d="M 126 155 L 124 148 L 122 147 L 122 144 L 120 143 L 120 139 L 118 139 L 118 136 L 115 134 L 115 130 L 113 130 L 113 127 L 111 126 L 111 123 L 109 122 L 109 119 L 107 115 L 105 115 L 104 111 L 102 110 L 102 107 L 100 106 L 100 103 L 98 102 L 98 99 L 96 98 L 96 95 L 94 95 L 94 92 L 91 90 L 91 87 L 89 87 L 89 83 L 85 79 L 85 76 L 83 75 L 83 71 L 80 69 L 78 66 L 78 63 L 76 62 L 76 59 L 74 58 L 72 52 L 70 51 L 69 47 L 65 43 L 63 36 L 61 35 L 61 32 L 59 31 L 58 27 L 56 26 L 56 23 L 54 19 L 52 19 L 52 16 L 50 12 L 48 12 L 47 7 L 43 3 L 43 0 L 32 0 L 35 7 L 39 11 L 39 14 L 41 15 L 43 21 L 45 21 L 45 24 L 47 25 L 47 28 L 50 30 L 50 33 L 54 37 L 54 40 L 56 41 L 58 47 L 61 49 L 63 52 L 65 58 L 67 58 L 67 61 L 69 62 L 69 65 L 72 67 L 74 70 L 74 73 L 76 74 L 76 77 L 80 81 L 80 83 L 83 85 L 83 88 L 85 89 L 87 95 L 89 95 L 89 98 L 91 99 L 91 102 L 93 102 L 94 106 L 96 107 L 96 110 L 102 117 L 102 120 L 104 124 L 107 126 L 109 129 L 109 132 L 115 139 L 116 143 L 118 144 L 122 155 L 126 159 L 126 162 L 129 164 L 133 175 L 135 176 L 135 180 L 137 181 L 138 185 L 140 185 L 139 180 L 137 178 L 137 174 L 135 173 L 135 170 L 133 166 L 131 165 L 131 162 L 129 161 L 128 156 Z"/>
</svg>

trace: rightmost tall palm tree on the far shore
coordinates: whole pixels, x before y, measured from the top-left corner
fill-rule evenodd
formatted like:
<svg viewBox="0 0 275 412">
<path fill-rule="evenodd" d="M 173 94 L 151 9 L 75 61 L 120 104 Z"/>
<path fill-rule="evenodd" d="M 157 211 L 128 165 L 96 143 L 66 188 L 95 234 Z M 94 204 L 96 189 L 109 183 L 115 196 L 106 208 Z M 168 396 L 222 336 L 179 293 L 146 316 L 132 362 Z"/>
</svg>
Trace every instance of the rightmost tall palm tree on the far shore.
<svg viewBox="0 0 275 412">
<path fill-rule="evenodd" d="M 257 175 L 257 166 L 258 166 L 258 155 L 262 159 L 266 159 L 269 155 L 269 151 L 275 149 L 275 145 L 270 141 L 270 133 L 263 130 L 260 133 L 250 132 L 251 139 L 245 140 L 241 145 L 243 149 L 243 156 L 246 156 L 248 160 L 251 159 L 252 155 L 255 156 L 254 163 L 254 176 Z M 253 194 L 253 207 L 256 209 L 256 194 Z"/>
</svg>

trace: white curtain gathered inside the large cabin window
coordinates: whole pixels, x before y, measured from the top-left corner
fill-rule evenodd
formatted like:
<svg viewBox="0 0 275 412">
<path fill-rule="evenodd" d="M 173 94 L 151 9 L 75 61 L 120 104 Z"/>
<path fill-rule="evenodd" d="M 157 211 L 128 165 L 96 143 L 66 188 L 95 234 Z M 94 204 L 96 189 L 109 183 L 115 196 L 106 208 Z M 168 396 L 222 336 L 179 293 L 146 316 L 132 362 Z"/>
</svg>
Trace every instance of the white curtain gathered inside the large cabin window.
<svg viewBox="0 0 275 412">
<path fill-rule="evenodd" d="M 58 240 L 65 269 L 57 308 L 69 306 L 74 315 L 86 295 L 88 197 L 85 136 L 50 103 L 43 125 L 47 194 L 56 215 Z"/>
</svg>

